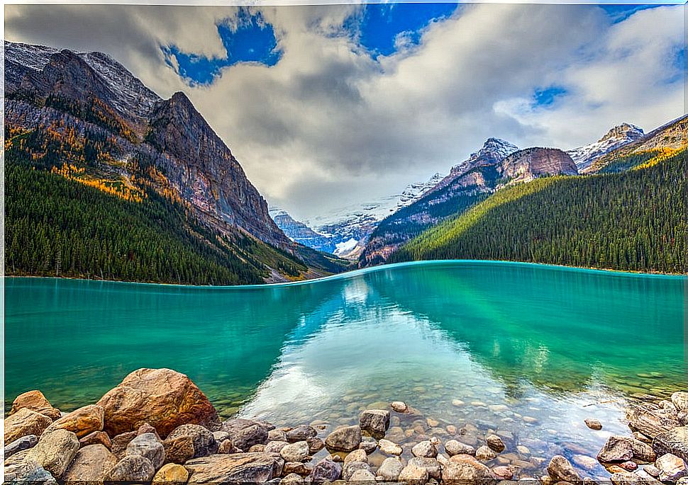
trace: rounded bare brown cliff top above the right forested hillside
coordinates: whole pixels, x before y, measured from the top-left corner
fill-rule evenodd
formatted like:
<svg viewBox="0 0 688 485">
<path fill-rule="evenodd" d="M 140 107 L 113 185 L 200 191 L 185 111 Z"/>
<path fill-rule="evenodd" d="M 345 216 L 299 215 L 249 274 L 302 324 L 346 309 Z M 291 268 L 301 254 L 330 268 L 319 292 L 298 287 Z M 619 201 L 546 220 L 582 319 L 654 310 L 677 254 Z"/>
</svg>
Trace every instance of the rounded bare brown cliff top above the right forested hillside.
<svg viewBox="0 0 688 485">
<path fill-rule="evenodd" d="M 560 149 L 528 148 L 507 156 L 501 173 L 509 183 L 518 183 L 543 176 L 578 175 L 578 169 L 571 156 Z"/>
</svg>

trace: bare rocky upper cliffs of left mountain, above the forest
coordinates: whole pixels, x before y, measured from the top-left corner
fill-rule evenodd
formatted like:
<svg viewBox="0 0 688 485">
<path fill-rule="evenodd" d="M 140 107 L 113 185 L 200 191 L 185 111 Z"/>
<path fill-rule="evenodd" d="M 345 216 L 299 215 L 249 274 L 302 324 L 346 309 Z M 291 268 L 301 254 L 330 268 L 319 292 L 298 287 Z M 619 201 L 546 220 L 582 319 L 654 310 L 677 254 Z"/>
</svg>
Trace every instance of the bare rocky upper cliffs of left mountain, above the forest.
<svg viewBox="0 0 688 485">
<path fill-rule="evenodd" d="M 183 93 L 162 100 L 101 52 L 13 42 L 5 42 L 5 52 L 10 128 L 101 132 L 108 156 L 87 160 L 95 171 L 125 183 L 138 177 L 160 193 L 171 191 L 214 229 L 239 229 L 294 251 L 230 149 Z M 136 172 L 142 164 L 148 171 Z"/>
</svg>

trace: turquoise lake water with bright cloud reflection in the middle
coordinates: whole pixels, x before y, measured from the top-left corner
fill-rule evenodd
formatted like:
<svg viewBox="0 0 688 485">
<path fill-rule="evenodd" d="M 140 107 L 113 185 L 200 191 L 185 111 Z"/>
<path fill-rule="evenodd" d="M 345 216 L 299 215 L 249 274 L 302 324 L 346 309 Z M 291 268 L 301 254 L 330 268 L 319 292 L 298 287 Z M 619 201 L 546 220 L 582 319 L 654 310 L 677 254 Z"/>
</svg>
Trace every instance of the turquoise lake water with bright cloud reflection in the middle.
<svg viewBox="0 0 688 485">
<path fill-rule="evenodd" d="M 479 445 L 496 431 L 495 463 L 521 477 L 557 452 L 604 477 L 581 456 L 628 434 L 628 402 L 688 387 L 681 277 L 453 261 L 263 287 L 4 283 L 8 404 L 40 389 L 69 411 L 132 370 L 170 367 L 221 416 L 326 433 L 401 400 L 417 412 L 395 415 L 388 438 L 405 455 L 425 436 Z"/>
</svg>

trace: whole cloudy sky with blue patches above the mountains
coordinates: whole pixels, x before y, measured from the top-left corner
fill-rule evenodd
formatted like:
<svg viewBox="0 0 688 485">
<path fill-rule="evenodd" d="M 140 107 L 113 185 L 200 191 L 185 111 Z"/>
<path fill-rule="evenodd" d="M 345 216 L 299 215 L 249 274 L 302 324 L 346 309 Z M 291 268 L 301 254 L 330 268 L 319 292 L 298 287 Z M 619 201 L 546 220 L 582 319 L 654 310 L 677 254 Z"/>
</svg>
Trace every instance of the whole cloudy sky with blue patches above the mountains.
<svg viewBox="0 0 688 485">
<path fill-rule="evenodd" d="M 6 6 L 8 40 L 184 91 L 299 219 L 398 193 L 487 137 L 569 149 L 684 107 L 684 7 Z"/>
</svg>

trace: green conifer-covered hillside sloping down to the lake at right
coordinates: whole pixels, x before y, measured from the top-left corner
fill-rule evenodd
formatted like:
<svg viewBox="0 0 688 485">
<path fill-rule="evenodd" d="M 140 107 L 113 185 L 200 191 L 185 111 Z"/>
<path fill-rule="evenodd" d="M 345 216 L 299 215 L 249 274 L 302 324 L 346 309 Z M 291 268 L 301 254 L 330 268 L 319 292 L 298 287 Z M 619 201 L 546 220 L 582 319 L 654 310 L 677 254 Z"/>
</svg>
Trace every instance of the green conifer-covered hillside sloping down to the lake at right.
<svg viewBox="0 0 688 485">
<path fill-rule="evenodd" d="M 389 262 L 493 259 L 688 273 L 687 150 L 626 163 L 635 168 L 499 190 Z"/>
</svg>

